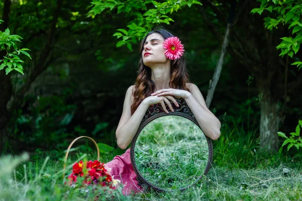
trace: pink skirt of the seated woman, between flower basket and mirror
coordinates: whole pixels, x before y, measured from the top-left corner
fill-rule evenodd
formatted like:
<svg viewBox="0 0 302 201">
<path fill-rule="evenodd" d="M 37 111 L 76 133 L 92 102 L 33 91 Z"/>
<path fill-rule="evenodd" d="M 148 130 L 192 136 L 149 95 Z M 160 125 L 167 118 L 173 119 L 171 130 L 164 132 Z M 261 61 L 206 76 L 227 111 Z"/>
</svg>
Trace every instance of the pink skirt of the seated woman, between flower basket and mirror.
<svg viewBox="0 0 302 201">
<path fill-rule="evenodd" d="M 124 195 L 129 195 L 132 191 L 135 193 L 142 192 L 143 189 L 137 185 L 136 173 L 132 167 L 130 159 L 130 149 L 120 155 L 115 156 L 112 161 L 105 164 L 105 168 L 111 168 L 111 175 L 114 176 L 114 179 L 121 180 L 124 187 L 122 193 Z"/>
</svg>

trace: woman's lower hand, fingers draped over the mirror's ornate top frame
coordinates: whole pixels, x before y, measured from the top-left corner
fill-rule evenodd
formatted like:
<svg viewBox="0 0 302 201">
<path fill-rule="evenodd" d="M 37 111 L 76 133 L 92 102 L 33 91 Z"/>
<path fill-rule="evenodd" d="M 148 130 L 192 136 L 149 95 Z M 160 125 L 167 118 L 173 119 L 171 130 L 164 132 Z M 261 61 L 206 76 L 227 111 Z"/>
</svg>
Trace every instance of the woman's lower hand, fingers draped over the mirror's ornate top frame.
<svg viewBox="0 0 302 201">
<path fill-rule="evenodd" d="M 162 95 L 162 96 L 151 95 L 151 96 L 149 96 L 149 97 L 146 97 L 146 98 L 143 100 L 143 102 L 146 103 L 146 104 L 148 104 L 148 106 L 152 106 L 152 105 L 155 105 L 155 104 L 161 104 L 163 110 L 164 110 L 166 113 L 169 113 L 168 110 L 167 110 L 167 108 L 166 108 L 166 106 L 165 106 L 165 103 L 166 103 L 166 104 L 168 105 L 168 107 L 170 108 L 170 110 L 171 110 L 172 112 L 174 112 L 173 107 L 172 107 L 172 105 L 171 105 L 169 99 L 172 100 L 172 102 L 173 102 L 177 107 L 179 107 L 179 105 L 178 105 L 176 99 L 175 99 L 173 96 L 171 96 L 171 95 Z"/>
</svg>

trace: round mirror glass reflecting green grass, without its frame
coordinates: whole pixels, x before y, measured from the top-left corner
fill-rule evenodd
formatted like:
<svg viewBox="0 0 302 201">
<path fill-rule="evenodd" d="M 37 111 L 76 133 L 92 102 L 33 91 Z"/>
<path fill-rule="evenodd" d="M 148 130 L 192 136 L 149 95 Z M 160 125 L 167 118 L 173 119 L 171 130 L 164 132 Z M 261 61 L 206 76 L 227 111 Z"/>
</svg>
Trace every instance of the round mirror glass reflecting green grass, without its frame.
<svg viewBox="0 0 302 201">
<path fill-rule="evenodd" d="M 135 163 L 150 183 L 165 189 L 186 187 L 199 178 L 208 160 L 208 145 L 190 120 L 165 116 L 146 125 L 135 143 Z"/>
</svg>

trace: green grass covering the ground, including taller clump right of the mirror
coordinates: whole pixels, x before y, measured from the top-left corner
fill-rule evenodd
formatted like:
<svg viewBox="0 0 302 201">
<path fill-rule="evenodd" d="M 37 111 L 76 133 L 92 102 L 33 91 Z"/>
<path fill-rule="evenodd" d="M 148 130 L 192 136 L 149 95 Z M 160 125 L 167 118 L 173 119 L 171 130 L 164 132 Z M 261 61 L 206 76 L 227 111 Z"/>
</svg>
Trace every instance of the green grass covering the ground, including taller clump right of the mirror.
<svg viewBox="0 0 302 201">
<path fill-rule="evenodd" d="M 240 122 L 223 124 L 221 137 L 213 142 L 213 167 L 203 181 L 185 191 L 145 192 L 124 196 L 121 189 L 88 192 L 64 185 L 61 158 L 49 153 L 0 159 L 0 200 L 302 200 L 302 160 L 295 153 L 266 154 L 259 151 L 258 130 L 246 132 Z M 280 142 L 282 143 L 282 142 Z M 78 150 L 79 151 L 79 150 Z M 124 150 L 102 154 L 108 162 Z M 96 159 L 91 150 L 88 159 Z M 70 154 L 68 164 L 84 154 Z M 71 169 L 69 166 L 68 169 Z M 101 194 L 99 194 L 101 193 Z"/>
</svg>

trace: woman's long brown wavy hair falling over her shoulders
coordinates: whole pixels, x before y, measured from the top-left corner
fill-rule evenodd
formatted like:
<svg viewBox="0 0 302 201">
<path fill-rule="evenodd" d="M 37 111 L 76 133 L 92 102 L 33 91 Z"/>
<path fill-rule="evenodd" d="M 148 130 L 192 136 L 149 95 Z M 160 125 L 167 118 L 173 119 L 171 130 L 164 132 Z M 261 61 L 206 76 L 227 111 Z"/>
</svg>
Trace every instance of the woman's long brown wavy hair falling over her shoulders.
<svg viewBox="0 0 302 201">
<path fill-rule="evenodd" d="M 140 60 L 138 63 L 139 69 L 137 71 L 137 78 L 136 82 L 134 84 L 134 91 L 133 91 L 133 103 L 131 105 L 131 115 L 135 112 L 135 110 L 138 108 L 139 104 L 141 104 L 142 100 L 148 96 L 150 96 L 151 93 L 154 92 L 155 89 L 155 83 L 151 79 L 151 68 L 145 66 L 142 61 L 142 51 L 143 51 L 143 45 L 146 41 L 147 36 L 153 33 L 161 34 L 164 39 L 166 40 L 169 37 L 173 37 L 173 34 L 168 32 L 165 29 L 158 29 L 149 32 L 144 39 L 140 43 Z M 171 72 L 170 72 L 170 82 L 169 87 L 170 88 L 176 88 L 176 89 L 183 89 L 190 91 L 190 89 L 186 86 L 186 83 L 189 83 L 189 75 L 186 68 L 185 59 L 183 56 L 181 56 L 179 59 L 172 60 L 171 61 Z"/>
</svg>

